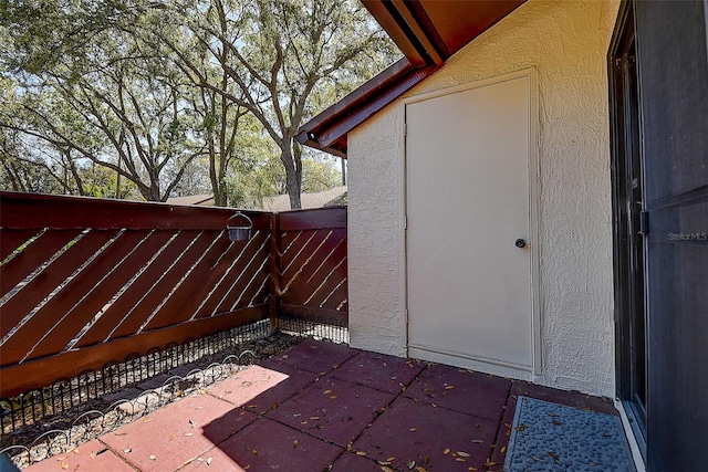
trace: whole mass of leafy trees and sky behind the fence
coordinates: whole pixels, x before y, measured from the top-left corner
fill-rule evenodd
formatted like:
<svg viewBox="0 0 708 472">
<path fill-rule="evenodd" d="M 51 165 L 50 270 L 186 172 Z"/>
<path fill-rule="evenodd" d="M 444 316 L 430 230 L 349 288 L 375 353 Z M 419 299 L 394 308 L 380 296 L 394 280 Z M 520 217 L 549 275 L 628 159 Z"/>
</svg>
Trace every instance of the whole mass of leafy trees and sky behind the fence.
<svg viewBox="0 0 708 472">
<path fill-rule="evenodd" d="M 298 128 L 396 55 L 356 0 L 9 0 L 0 185 L 298 208 L 340 179 Z"/>
</svg>

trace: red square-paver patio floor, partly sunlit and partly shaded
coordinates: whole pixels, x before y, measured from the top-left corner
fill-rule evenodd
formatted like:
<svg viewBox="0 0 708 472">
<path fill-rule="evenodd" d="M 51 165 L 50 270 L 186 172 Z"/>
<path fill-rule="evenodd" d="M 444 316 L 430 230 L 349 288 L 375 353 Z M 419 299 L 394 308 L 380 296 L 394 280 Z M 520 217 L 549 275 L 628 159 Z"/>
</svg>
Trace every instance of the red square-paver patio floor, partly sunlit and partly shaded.
<svg viewBox="0 0 708 472">
<path fill-rule="evenodd" d="M 306 340 L 28 470 L 501 471 L 520 395 L 617 415 L 596 397 Z"/>
</svg>

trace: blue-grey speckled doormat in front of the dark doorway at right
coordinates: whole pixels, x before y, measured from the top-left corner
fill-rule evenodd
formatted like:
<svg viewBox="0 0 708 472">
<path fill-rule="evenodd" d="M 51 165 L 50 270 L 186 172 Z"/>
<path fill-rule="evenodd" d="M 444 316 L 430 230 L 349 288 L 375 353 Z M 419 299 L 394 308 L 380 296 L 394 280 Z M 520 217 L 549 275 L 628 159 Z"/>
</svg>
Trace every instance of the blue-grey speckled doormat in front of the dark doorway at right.
<svg viewBox="0 0 708 472">
<path fill-rule="evenodd" d="M 634 472 L 620 418 L 519 397 L 506 472 Z"/>
</svg>

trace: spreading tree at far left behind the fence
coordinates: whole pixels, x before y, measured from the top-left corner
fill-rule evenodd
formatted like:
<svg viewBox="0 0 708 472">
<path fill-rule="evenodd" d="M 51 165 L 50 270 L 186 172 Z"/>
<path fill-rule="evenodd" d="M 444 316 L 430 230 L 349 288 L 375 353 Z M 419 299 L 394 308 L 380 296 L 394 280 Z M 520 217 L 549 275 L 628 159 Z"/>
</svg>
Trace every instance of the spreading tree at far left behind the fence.
<svg viewBox="0 0 708 472">
<path fill-rule="evenodd" d="M 7 34 L 14 54 L 4 57 L 4 69 L 20 80 L 19 113 L 1 114 L 0 127 L 108 168 L 146 200 L 165 201 L 206 149 L 184 98 L 191 85 L 159 44 L 132 34 L 126 23 L 142 20 L 136 4 L 13 3 Z"/>
</svg>

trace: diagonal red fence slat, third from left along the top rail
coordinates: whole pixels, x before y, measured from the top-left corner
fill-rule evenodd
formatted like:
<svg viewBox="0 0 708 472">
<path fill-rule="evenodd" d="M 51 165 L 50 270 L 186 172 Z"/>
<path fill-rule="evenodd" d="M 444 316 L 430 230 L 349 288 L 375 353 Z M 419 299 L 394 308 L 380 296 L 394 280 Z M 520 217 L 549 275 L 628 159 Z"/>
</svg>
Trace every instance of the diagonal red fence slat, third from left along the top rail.
<svg viewBox="0 0 708 472">
<path fill-rule="evenodd" d="M 32 279 L 0 307 L 0 334 L 4 337 L 18 325 L 38 304 L 60 286 L 84 262 L 96 253 L 115 231 L 91 231 L 84 234 L 71 249 L 60 255 L 44 271 Z M 4 268 L 2 268 L 4 271 Z M 2 354 L 4 355 L 4 346 Z M 4 361 L 4 359 L 0 359 Z"/>
</svg>

